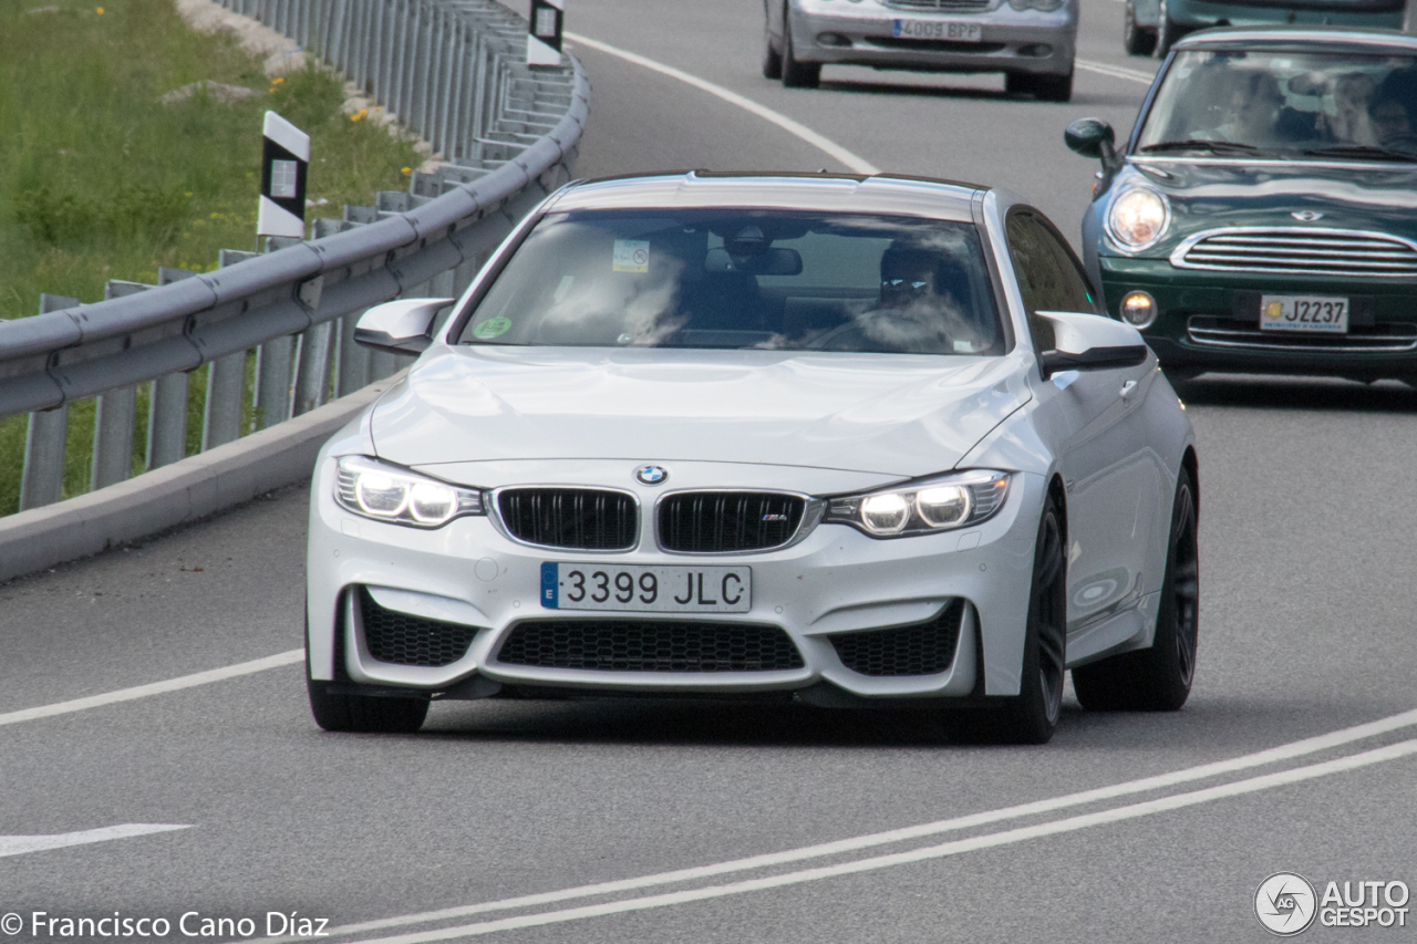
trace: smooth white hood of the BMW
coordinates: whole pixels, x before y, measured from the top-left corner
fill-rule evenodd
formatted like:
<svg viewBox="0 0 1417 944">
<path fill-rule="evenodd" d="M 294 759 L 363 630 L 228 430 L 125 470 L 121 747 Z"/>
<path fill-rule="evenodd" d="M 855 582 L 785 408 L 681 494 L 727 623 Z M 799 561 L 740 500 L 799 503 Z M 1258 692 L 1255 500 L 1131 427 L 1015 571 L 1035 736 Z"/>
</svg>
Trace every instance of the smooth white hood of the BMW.
<svg viewBox="0 0 1417 944">
<path fill-rule="evenodd" d="M 703 461 L 954 468 L 1029 398 L 1022 354 L 435 347 L 377 404 L 400 465 Z"/>
</svg>

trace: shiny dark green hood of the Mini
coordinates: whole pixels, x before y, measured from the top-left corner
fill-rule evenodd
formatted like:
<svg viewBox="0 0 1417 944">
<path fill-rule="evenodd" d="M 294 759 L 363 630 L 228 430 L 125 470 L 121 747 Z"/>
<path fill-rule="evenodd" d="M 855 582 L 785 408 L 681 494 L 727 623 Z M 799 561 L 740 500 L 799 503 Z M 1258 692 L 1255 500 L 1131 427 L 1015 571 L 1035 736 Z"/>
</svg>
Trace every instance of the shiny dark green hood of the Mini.
<svg viewBox="0 0 1417 944">
<path fill-rule="evenodd" d="M 1170 201 L 1166 238 L 1145 255 L 1168 254 L 1182 240 L 1219 227 L 1372 230 L 1417 238 L 1417 164 L 1370 162 L 1161 162 L 1128 164 L 1112 193 L 1148 183 Z M 1312 223 L 1291 214 L 1323 214 Z"/>
</svg>

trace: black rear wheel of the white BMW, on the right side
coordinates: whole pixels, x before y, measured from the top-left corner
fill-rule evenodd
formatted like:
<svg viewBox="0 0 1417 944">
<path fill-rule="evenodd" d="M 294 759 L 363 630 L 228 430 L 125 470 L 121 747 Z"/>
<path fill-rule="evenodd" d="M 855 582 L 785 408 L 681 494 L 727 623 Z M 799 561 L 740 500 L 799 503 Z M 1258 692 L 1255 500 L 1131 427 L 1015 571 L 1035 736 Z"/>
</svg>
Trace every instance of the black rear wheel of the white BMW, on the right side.
<svg viewBox="0 0 1417 944">
<path fill-rule="evenodd" d="M 1175 712 L 1186 703 L 1196 675 L 1200 556 L 1196 486 L 1186 469 L 1176 479 L 1170 509 L 1166 575 L 1151 649 L 1125 652 L 1073 669 L 1073 689 L 1095 712 Z"/>
</svg>

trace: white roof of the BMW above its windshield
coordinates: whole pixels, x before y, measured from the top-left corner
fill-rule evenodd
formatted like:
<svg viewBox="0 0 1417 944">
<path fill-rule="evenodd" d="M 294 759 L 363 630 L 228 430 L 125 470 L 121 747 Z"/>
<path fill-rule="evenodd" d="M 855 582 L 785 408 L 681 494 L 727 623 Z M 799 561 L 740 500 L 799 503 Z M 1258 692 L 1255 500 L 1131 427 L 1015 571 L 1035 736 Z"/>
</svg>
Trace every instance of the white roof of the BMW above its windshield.
<svg viewBox="0 0 1417 944">
<path fill-rule="evenodd" d="M 973 201 L 985 190 L 988 187 L 978 184 L 896 174 L 689 170 L 575 181 L 546 210 L 721 207 L 874 213 L 969 223 Z"/>
</svg>

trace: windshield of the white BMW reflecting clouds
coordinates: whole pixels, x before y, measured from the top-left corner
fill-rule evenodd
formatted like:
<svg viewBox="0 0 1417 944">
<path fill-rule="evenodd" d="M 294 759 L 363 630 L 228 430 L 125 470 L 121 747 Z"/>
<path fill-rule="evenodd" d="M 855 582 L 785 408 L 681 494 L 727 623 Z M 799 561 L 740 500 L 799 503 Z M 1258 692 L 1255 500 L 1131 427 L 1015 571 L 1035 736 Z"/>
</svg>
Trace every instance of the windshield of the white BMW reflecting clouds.
<svg viewBox="0 0 1417 944">
<path fill-rule="evenodd" d="M 465 344 L 998 354 L 975 227 L 750 210 L 550 214 Z"/>
</svg>

